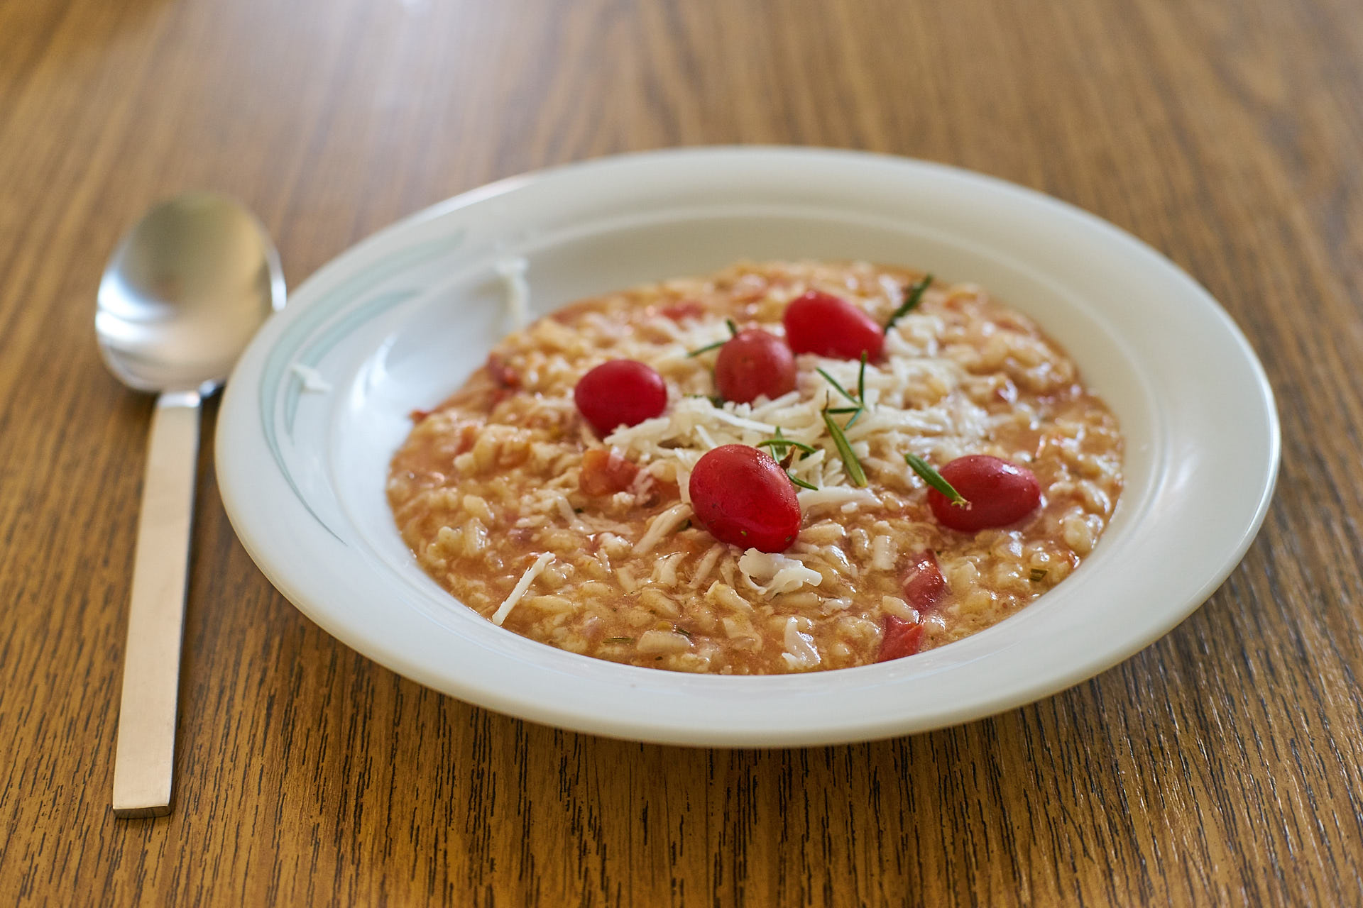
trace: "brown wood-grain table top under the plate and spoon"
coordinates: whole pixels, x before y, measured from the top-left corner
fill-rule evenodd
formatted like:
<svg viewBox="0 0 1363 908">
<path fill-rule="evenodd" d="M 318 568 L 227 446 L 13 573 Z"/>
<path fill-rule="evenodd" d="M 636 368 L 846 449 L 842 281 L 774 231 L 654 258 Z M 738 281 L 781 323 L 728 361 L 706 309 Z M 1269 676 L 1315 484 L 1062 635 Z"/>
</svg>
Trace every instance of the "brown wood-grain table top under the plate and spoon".
<svg viewBox="0 0 1363 908">
<path fill-rule="evenodd" d="M 0 1 L 0 904 L 1359 904 L 1360 98 L 1352 0 Z M 973 167 L 1187 268 L 1280 395 L 1240 568 L 1138 656 L 994 719 L 642 746 L 331 640 L 237 543 L 210 447 L 179 803 L 114 820 L 151 408 L 94 346 L 120 233 L 233 193 L 297 286 L 488 180 L 699 143 Z"/>
</svg>

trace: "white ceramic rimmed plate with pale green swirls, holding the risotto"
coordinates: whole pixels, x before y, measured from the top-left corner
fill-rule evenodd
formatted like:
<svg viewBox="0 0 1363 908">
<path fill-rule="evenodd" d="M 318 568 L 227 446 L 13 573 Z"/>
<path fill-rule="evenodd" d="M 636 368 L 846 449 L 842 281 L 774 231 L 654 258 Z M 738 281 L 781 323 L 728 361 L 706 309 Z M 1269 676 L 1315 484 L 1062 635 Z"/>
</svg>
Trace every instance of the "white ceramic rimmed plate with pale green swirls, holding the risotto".
<svg viewBox="0 0 1363 908">
<path fill-rule="evenodd" d="M 442 591 L 384 500 L 413 408 L 532 309 L 737 259 L 867 259 L 970 280 L 1029 313 L 1118 414 L 1126 490 L 1093 555 L 1020 614 L 910 659 L 725 678 L 619 666 L 493 626 Z M 301 366 L 303 369 L 296 369 Z M 308 389 L 307 370 L 330 389 Z M 1055 693 L 1139 651 L 1235 568 L 1278 464 L 1272 391 L 1217 304 L 1129 234 L 1047 196 L 845 151 L 696 148 L 547 170 L 428 208 L 322 268 L 228 385 L 218 481 L 241 542 L 304 614 L 424 685 L 552 726 L 684 745 L 864 741 Z"/>
</svg>

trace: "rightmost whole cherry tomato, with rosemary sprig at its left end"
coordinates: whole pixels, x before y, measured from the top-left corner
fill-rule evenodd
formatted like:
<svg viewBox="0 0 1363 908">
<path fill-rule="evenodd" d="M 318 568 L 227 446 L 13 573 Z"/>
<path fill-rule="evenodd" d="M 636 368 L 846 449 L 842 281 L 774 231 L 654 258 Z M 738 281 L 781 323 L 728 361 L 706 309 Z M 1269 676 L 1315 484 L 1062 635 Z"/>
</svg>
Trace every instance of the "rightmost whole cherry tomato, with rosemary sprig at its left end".
<svg viewBox="0 0 1363 908">
<path fill-rule="evenodd" d="M 943 525 L 961 532 L 1006 527 L 1041 504 L 1041 486 L 1026 467 L 988 455 L 957 457 L 939 470 L 970 506 L 953 505 L 936 489 L 928 489 L 928 505 Z"/>
</svg>

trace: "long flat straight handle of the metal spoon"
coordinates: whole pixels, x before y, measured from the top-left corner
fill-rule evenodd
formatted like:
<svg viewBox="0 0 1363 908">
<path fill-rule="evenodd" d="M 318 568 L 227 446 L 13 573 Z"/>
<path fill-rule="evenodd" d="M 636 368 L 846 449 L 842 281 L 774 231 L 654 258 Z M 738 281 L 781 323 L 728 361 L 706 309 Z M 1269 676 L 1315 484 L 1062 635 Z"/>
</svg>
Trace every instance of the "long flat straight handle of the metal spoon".
<svg viewBox="0 0 1363 908">
<path fill-rule="evenodd" d="M 174 726 L 189 527 L 199 452 L 199 395 L 157 398 L 132 561 L 113 813 L 161 817 L 174 794 Z"/>
</svg>

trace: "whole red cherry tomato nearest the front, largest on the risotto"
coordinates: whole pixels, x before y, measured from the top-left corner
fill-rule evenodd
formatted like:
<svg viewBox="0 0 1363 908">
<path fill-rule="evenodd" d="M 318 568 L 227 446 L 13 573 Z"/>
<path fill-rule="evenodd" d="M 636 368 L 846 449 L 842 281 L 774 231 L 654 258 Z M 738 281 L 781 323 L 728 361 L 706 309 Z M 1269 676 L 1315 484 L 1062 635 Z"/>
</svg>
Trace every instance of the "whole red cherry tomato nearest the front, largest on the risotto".
<svg viewBox="0 0 1363 908">
<path fill-rule="evenodd" d="M 785 470 L 765 451 L 721 445 L 691 471 L 695 521 L 720 542 L 785 551 L 800 532 L 800 502 Z"/>
</svg>

